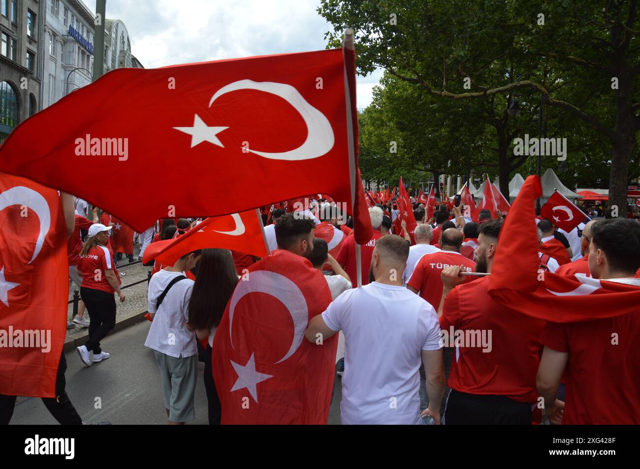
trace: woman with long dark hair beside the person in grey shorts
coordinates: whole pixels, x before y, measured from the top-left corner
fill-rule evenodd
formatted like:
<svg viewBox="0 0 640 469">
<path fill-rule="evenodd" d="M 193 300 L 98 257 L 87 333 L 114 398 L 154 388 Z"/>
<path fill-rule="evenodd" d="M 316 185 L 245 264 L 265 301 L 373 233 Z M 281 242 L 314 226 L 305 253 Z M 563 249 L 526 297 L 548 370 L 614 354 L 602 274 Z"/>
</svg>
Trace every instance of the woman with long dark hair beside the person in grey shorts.
<svg viewBox="0 0 640 469">
<path fill-rule="evenodd" d="M 220 425 L 220 399 L 211 368 L 211 346 L 227 303 L 234 293 L 238 276 L 231 251 L 203 249 L 198 276 L 189 300 L 189 325 L 198 340 L 209 337 L 205 353 L 204 386 L 209 403 L 209 425 Z"/>
</svg>

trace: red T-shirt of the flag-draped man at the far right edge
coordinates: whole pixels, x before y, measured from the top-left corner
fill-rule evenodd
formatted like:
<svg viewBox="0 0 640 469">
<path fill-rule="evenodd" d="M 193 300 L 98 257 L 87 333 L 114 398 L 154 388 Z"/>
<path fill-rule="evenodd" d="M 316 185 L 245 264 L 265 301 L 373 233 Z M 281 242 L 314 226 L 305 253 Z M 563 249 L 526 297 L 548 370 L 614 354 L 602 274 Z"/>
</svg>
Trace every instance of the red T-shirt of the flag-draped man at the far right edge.
<svg viewBox="0 0 640 469">
<path fill-rule="evenodd" d="M 639 279 L 609 279 L 640 287 Z M 540 342 L 568 353 L 563 424 L 640 424 L 639 311 L 580 323 L 548 322 Z M 615 335 L 614 335 L 615 334 Z M 614 340 L 615 337 L 615 340 Z"/>
</svg>

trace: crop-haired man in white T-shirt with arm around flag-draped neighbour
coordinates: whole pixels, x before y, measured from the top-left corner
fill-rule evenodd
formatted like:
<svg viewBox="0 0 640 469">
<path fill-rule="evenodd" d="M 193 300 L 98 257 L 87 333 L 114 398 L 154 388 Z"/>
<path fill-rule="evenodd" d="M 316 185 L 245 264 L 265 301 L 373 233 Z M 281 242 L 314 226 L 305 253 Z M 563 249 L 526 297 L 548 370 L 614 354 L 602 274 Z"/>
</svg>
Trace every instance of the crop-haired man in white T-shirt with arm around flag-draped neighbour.
<svg viewBox="0 0 640 469">
<path fill-rule="evenodd" d="M 317 344 L 317 337 L 344 332 L 342 424 L 417 423 L 420 358 L 429 402 L 442 401 L 440 324 L 433 307 L 403 286 L 401 272 L 408 254 L 408 244 L 395 234 L 376 241 L 371 283 L 342 293 L 310 321 L 305 333 Z M 440 423 L 439 408 L 429 407 L 424 413 Z"/>
</svg>

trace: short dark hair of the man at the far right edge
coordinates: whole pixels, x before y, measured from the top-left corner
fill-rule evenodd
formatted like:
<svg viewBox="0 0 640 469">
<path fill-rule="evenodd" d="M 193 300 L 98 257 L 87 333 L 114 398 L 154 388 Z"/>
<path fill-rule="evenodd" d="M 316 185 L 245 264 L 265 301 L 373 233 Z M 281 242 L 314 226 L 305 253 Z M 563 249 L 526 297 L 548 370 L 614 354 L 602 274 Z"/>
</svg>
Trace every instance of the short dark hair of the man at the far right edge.
<svg viewBox="0 0 640 469">
<path fill-rule="evenodd" d="M 591 242 L 602 249 L 614 270 L 636 272 L 640 268 L 640 223 L 614 217 L 591 226 Z"/>
</svg>

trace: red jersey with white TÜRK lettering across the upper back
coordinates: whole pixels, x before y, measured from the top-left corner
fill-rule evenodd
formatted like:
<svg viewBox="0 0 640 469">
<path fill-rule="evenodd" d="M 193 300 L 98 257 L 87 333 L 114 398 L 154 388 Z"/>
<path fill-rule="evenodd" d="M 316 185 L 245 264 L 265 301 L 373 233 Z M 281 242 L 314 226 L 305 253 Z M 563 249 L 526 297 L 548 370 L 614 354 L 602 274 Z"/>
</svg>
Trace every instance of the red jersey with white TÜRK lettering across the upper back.
<svg viewBox="0 0 640 469">
<path fill-rule="evenodd" d="M 465 258 L 460 252 L 441 250 L 422 256 L 406 283 L 417 289 L 420 296 L 438 311 L 442 299 L 442 277 L 440 275 L 445 268 L 452 265 L 464 266 L 467 268 L 467 272 L 473 272 L 476 268 L 476 263 Z M 472 281 L 473 278 L 468 275 L 467 281 Z"/>
</svg>

